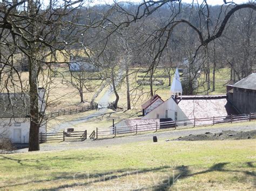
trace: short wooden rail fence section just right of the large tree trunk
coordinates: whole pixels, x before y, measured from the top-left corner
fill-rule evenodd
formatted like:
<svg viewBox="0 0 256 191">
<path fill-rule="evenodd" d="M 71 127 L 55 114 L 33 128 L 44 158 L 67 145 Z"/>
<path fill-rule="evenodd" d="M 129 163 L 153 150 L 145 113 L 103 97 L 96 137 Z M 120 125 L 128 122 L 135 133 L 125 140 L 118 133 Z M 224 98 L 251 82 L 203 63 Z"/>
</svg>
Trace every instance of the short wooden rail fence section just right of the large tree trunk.
<svg viewBox="0 0 256 191">
<path fill-rule="evenodd" d="M 57 133 L 40 133 L 40 142 L 49 142 L 53 140 L 81 140 L 82 142 L 87 139 L 87 130 L 73 131 L 73 132 L 57 132 Z"/>
</svg>

